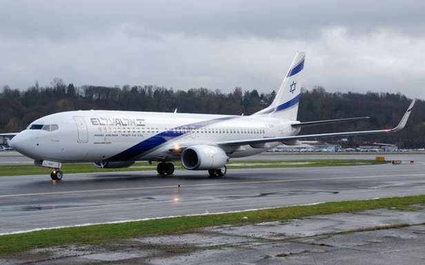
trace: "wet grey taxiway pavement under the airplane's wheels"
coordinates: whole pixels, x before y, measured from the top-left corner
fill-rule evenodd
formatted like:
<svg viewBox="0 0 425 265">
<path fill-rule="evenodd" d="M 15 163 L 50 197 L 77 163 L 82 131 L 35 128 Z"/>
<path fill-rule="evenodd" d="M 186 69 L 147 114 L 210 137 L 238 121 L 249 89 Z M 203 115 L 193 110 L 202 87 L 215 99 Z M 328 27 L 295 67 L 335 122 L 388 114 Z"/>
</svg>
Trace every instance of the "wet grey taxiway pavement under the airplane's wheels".
<svg viewBox="0 0 425 265">
<path fill-rule="evenodd" d="M 51 182 L 49 176 L 0 177 L 0 233 L 424 194 L 424 169 L 424 162 L 418 161 L 415 165 L 230 169 L 219 179 L 207 178 L 204 171 L 181 170 L 171 177 L 156 176 L 155 171 L 66 174 L 62 182 Z"/>
</svg>

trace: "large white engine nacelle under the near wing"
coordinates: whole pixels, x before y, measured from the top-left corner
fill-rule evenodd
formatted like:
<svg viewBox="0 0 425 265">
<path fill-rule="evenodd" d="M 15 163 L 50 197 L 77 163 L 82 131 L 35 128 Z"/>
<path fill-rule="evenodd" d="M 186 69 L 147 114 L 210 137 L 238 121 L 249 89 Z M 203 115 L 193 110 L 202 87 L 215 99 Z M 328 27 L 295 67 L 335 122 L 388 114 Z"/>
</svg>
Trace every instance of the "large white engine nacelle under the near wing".
<svg viewBox="0 0 425 265">
<path fill-rule="evenodd" d="M 189 170 L 221 169 L 227 160 L 223 149 L 212 145 L 193 145 L 181 153 L 181 164 Z"/>
</svg>

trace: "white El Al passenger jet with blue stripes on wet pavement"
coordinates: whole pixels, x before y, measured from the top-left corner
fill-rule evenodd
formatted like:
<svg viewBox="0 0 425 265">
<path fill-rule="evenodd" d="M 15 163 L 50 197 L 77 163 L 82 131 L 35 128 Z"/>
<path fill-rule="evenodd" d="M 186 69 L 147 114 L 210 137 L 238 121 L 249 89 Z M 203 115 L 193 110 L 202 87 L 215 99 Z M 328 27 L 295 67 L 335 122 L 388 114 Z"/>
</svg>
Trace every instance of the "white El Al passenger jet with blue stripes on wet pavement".
<svg viewBox="0 0 425 265">
<path fill-rule="evenodd" d="M 34 120 L 9 141 L 10 147 L 52 168 L 61 180 L 62 163 L 93 162 L 98 168 L 130 167 L 135 161 L 158 162 L 161 176 L 172 175 L 173 162 L 187 170 L 226 175 L 230 158 L 252 156 L 281 143 L 330 136 L 393 133 L 404 129 L 415 100 L 397 127 L 298 135 L 302 127 L 363 120 L 368 117 L 300 122 L 297 120 L 305 53 L 297 52 L 273 102 L 250 116 L 85 110 L 59 112 Z"/>
</svg>

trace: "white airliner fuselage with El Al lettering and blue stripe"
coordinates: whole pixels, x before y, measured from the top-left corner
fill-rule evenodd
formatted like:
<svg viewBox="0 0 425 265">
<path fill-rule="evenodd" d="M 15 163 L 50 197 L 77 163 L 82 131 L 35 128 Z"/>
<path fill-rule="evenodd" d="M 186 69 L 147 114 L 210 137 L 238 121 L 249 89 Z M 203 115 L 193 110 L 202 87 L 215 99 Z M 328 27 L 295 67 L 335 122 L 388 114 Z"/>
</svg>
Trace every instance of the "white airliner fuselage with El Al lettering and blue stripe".
<svg viewBox="0 0 425 265">
<path fill-rule="evenodd" d="M 224 116 L 158 112 L 75 111 L 39 118 L 15 136 L 15 148 L 34 160 L 97 162 L 178 160 L 180 147 L 217 145 L 227 140 L 298 134 L 294 120 L 267 116 Z M 50 125 L 50 126 L 47 126 Z M 264 146 L 226 149 L 230 158 L 271 149 Z"/>
</svg>

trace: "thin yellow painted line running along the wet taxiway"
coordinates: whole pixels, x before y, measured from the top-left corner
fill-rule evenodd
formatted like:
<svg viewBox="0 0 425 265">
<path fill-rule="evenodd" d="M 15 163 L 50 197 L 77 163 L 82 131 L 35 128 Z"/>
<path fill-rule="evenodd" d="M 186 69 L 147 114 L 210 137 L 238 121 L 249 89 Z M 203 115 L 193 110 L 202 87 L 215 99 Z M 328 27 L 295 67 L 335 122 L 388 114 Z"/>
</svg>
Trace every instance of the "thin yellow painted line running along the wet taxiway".
<svg viewBox="0 0 425 265">
<path fill-rule="evenodd" d="M 377 176 L 354 176 L 354 177 L 332 177 L 332 178 L 293 178 L 290 180 L 253 180 L 253 181 L 233 181 L 233 182 L 219 182 L 219 183 L 202 183 L 202 184 L 181 184 L 180 188 L 184 187 L 208 187 L 208 186 L 224 186 L 224 185 L 246 185 L 246 184 L 266 184 L 266 183 L 284 183 L 284 182 L 302 182 L 302 181 L 318 181 L 318 180 L 355 180 L 364 178 L 388 178 L 388 177 L 408 177 L 408 176 L 425 176 L 425 173 L 420 174 L 397 174 L 397 175 L 377 175 Z M 139 191 L 148 189 L 175 189 L 177 184 L 152 186 L 152 187 L 128 187 L 128 188 L 112 188 L 112 189 L 85 189 L 79 191 L 51 191 L 40 193 L 18 193 L 0 195 L 0 198 L 24 197 L 24 196 L 37 196 L 37 195 L 61 195 L 72 193 L 96 193 L 108 191 Z"/>
</svg>

